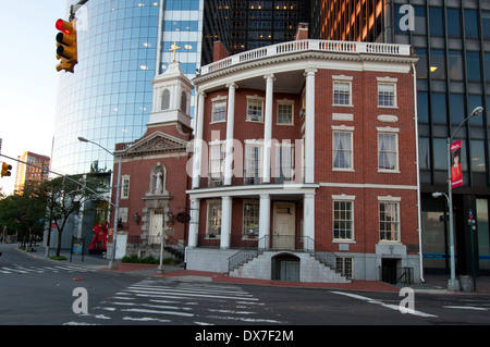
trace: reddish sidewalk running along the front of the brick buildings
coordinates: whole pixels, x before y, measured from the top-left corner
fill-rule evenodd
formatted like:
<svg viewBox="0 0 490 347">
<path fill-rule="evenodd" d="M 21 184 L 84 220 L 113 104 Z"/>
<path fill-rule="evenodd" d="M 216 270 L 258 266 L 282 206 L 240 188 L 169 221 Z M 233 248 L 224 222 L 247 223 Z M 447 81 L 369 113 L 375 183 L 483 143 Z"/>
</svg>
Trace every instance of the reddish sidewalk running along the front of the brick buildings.
<svg viewBox="0 0 490 347">
<path fill-rule="evenodd" d="M 38 248 L 36 253 L 32 253 L 36 258 L 46 258 L 45 248 Z M 51 249 L 50 256 L 54 255 L 54 250 Z M 203 272 L 184 270 L 183 267 L 164 265 L 163 273 L 159 273 L 158 265 L 156 264 L 134 264 L 134 263 L 121 263 L 115 262 L 115 269 L 109 269 L 109 260 L 99 255 L 85 255 L 83 258 L 78 255 L 71 256 L 70 251 L 62 250 L 60 256 L 65 257 L 70 264 L 82 265 L 90 269 L 97 269 L 100 271 L 110 271 L 127 274 L 138 274 L 147 276 L 159 277 L 181 277 L 185 281 L 207 281 L 207 282 L 220 282 L 220 283 L 236 283 L 236 284 L 250 284 L 250 285 L 268 285 L 268 286 L 282 286 L 282 287 L 302 287 L 302 288 L 326 288 L 326 289 L 346 289 L 346 290 L 365 290 L 365 292 L 393 292 L 397 293 L 402 287 L 412 287 L 416 293 L 427 294 L 464 294 L 464 295 L 490 295 L 490 276 L 479 276 L 476 281 L 476 292 L 463 293 L 463 292 L 448 292 L 449 275 L 425 275 L 425 283 L 416 283 L 412 285 L 391 285 L 379 281 L 352 281 L 352 283 L 305 283 L 305 282 L 285 282 L 285 281 L 271 281 L 271 280 L 255 280 L 255 278 L 240 278 L 230 277 L 223 273 Z M 64 261 L 63 261 L 64 262 Z"/>
</svg>

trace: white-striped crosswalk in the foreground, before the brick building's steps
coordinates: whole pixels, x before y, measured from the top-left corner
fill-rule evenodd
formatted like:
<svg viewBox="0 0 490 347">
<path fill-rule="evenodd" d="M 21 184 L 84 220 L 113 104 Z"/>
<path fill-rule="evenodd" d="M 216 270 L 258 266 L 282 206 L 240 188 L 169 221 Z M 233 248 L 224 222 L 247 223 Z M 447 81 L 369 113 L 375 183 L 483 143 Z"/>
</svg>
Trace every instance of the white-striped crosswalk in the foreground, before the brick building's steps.
<svg viewBox="0 0 490 347">
<path fill-rule="evenodd" d="M 182 322 L 215 325 L 231 323 L 272 323 L 283 321 L 260 317 L 254 309 L 264 306 L 252 294 L 235 286 L 194 283 L 181 286 L 173 280 L 146 278 L 103 301 L 97 309 L 112 319 L 132 322 Z M 95 318 L 96 315 L 91 315 Z"/>
</svg>

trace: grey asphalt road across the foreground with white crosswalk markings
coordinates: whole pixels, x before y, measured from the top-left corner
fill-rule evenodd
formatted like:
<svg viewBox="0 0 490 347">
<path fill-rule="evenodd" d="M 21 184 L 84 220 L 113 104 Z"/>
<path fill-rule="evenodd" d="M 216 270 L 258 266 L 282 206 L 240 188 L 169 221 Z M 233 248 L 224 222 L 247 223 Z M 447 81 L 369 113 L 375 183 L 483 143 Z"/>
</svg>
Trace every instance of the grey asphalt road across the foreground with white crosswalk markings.
<svg viewBox="0 0 490 347">
<path fill-rule="evenodd" d="M 490 296 L 413 293 L 412 310 L 403 313 L 406 296 L 397 293 L 158 278 L 33 258 L 1 245 L 0 251 L 0 325 L 193 326 L 186 339 L 205 338 L 201 326 L 217 334 L 226 326 L 235 343 L 252 343 L 258 331 L 283 340 L 293 332 L 297 340 L 327 326 L 490 324 Z"/>
</svg>

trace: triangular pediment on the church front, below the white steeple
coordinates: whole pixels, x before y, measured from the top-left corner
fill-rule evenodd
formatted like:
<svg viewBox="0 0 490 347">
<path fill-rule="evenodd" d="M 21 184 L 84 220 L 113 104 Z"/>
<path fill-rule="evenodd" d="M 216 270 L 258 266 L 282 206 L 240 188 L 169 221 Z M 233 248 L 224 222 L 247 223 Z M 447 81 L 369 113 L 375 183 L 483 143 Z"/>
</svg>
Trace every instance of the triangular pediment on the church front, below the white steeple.
<svg viewBox="0 0 490 347">
<path fill-rule="evenodd" d="M 185 151 L 187 141 L 177 137 L 155 132 L 147 137 L 140 138 L 124 151 L 125 156 L 140 156 L 157 152 Z"/>
</svg>

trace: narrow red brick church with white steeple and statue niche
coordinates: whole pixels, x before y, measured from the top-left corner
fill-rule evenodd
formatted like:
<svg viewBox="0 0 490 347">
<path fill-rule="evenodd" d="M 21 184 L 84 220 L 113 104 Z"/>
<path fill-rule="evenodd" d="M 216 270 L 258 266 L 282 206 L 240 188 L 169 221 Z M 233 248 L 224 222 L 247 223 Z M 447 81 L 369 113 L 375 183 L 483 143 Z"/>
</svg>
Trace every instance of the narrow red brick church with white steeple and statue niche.
<svg viewBox="0 0 490 347">
<path fill-rule="evenodd" d="M 186 165 L 191 159 L 193 85 L 179 62 L 170 63 L 152 84 L 154 109 L 145 135 L 115 147 L 114 156 L 122 159 L 118 258 L 124 255 L 158 258 L 162 237 L 168 249 L 183 255 L 188 215 L 185 189 L 189 182 Z M 117 163 L 114 177 L 118 174 Z M 113 197 L 115 189 L 114 185 Z"/>
</svg>

